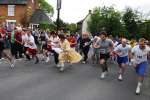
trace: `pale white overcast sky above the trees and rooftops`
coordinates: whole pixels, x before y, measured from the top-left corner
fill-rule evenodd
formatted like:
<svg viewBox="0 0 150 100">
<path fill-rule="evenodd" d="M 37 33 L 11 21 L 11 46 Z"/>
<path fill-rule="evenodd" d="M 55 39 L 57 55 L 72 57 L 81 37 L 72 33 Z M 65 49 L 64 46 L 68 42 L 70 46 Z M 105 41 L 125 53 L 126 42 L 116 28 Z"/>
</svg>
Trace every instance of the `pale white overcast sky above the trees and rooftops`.
<svg viewBox="0 0 150 100">
<path fill-rule="evenodd" d="M 57 17 L 56 4 L 57 0 L 46 0 L 54 9 L 53 19 Z M 65 22 L 76 23 L 82 20 L 90 9 L 96 6 L 114 5 L 118 10 L 123 11 L 125 7 L 130 6 L 141 12 L 148 13 L 150 11 L 150 0 L 62 0 L 62 9 L 60 17 Z"/>
</svg>

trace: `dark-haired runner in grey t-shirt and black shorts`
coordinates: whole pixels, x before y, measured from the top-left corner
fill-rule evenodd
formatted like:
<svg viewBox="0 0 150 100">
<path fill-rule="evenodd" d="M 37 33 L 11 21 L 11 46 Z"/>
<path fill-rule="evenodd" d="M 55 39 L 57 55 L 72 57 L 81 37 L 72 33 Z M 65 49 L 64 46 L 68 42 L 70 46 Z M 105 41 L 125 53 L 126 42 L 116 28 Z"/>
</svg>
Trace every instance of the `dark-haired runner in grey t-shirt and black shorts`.
<svg viewBox="0 0 150 100">
<path fill-rule="evenodd" d="M 106 32 L 101 32 L 99 36 L 101 39 L 97 41 L 94 47 L 100 50 L 100 65 L 102 67 L 101 78 L 103 79 L 108 72 L 107 60 L 113 49 L 113 42 L 107 38 Z"/>
</svg>

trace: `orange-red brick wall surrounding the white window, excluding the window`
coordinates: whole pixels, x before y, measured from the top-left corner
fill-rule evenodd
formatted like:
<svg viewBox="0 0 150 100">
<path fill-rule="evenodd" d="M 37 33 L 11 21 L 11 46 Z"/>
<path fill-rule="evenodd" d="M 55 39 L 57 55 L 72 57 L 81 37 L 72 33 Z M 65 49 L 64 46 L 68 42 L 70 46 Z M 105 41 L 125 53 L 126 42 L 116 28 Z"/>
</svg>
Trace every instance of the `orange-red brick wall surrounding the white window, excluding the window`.
<svg viewBox="0 0 150 100">
<path fill-rule="evenodd" d="M 16 24 L 20 24 L 22 23 L 22 20 L 24 20 L 27 17 L 27 9 L 31 10 L 31 16 L 37 8 L 37 0 L 34 0 L 34 3 L 32 2 L 32 0 L 28 0 L 27 5 L 15 5 L 15 15 L 8 16 L 8 5 L 0 5 L 0 23 L 6 22 L 6 20 L 16 20 Z"/>
</svg>

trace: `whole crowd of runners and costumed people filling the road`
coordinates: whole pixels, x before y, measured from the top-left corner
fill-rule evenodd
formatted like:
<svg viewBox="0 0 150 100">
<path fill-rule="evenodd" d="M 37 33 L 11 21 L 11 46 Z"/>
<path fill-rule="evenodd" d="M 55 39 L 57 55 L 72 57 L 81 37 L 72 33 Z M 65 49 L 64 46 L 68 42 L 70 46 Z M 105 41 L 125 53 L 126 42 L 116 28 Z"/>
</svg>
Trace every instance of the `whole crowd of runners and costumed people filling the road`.
<svg viewBox="0 0 150 100">
<path fill-rule="evenodd" d="M 92 49 L 92 55 L 89 52 Z M 10 50 L 11 54 L 7 53 Z M 91 52 L 90 52 L 91 53 Z M 42 55 L 42 56 L 39 56 Z M 89 33 L 81 35 L 63 32 L 48 32 L 32 30 L 16 26 L 12 31 L 0 26 L 0 61 L 8 60 L 11 68 L 15 67 L 17 59 L 25 58 L 26 61 L 35 60 L 48 63 L 54 57 L 56 67 L 62 72 L 65 62 L 73 66 L 74 63 L 99 64 L 102 68 L 101 79 L 106 78 L 109 72 L 108 59 L 117 62 L 118 80 L 123 81 L 127 66 L 133 66 L 137 74 L 136 94 L 140 94 L 141 87 L 148 67 L 150 57 L 149 41 L 140 38 L 113 38 L 105 31 L 97 33 L 91 38 Z"/>
</svg>

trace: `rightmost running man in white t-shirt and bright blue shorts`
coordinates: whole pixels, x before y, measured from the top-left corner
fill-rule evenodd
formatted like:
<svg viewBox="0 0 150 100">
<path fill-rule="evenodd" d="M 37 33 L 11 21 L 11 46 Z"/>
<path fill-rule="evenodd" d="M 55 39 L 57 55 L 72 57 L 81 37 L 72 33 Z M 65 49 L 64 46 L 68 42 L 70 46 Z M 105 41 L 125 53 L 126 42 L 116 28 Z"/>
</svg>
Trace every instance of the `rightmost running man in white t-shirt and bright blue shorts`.
<svg viewBox="0 0 150 100">
<path fill-rule="evenodd" d="M 144 38 L 141 38 L 139 40 L 139 45 L 136 45 L 132 49 L 131 57 L 131 62 L 134 64 L 136 73 L 138 75 L 136 94 L 139 95 L 148 65 L 148 58 L 150 57 L 150 47 L 146 45 L 146 41 Z"/>
</svg>

